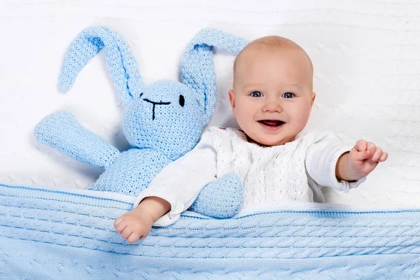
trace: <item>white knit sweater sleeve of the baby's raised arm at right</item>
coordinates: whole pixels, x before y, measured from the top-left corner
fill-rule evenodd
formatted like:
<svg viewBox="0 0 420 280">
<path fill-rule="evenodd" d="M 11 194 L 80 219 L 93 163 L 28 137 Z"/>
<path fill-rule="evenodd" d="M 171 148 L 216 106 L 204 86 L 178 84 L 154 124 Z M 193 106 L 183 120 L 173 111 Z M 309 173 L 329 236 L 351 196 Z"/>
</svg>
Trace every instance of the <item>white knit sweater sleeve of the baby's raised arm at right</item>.
<svg viewBox="0 0 420 280">
<path fill-rule="evenodd" d="M 305 166 L 309 176 L 320 186 L 328 186 L 345 193 L 356 188 L 366 180 L 366 176 L 356 181 L 339 181 L 335 176 L 335 167 L 339 157 L 350 151 L 351 146 L 344 146 L 331 132 L 318 132 L 309 146 Z"/>
</svg>

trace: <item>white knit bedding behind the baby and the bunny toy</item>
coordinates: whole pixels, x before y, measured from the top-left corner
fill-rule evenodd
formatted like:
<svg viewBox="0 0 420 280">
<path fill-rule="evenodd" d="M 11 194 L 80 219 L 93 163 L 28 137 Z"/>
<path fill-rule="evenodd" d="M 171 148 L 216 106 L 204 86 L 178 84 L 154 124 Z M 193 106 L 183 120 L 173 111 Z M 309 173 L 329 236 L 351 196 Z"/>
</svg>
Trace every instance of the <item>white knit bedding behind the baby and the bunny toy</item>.
<svg viewBox="0 0 420 280">
<path fill-rule="evenodd" d="M 215 27 L 248 39 L 276 34 L 314 62 L 317 97 L 307 130 L 388 151 L 363 185 L 325 190 L 328 202 L 420 207 L 420 3 L 348 1 L 0 0 L 0 182 L 84 188 L 102 172 L 36 143 L 43 116 L 71 111 L 120 149 L 123 106 L 104 56 L 94 57 L 68 94 L 57 91 L 64 52 L 85 27 L 107 25 L 129 43 L 145 83 L 178 80 L 186 43 Z M 233 57 L 217 52 L 219 102 L 213 125 L 232 125 L 227 94 Z"/>
</svg>

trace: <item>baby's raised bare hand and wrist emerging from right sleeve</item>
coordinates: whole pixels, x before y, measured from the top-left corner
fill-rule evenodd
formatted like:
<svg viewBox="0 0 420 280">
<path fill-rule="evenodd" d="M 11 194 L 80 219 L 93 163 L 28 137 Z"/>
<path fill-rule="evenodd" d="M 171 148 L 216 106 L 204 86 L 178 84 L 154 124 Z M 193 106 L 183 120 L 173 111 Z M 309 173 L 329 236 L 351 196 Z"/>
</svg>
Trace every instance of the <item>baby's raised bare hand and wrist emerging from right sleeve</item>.
<svg viewBox="0 0 420 280">
<path fill-rule="evenodd" d="M 357 141 L 347 153 L 342 154 L 335 167 L 335 176 L 339 180 L 354 181 L 373 171 L 379 162 L 384 162 L 388 153 L 372 142 Z"/>
</svg>

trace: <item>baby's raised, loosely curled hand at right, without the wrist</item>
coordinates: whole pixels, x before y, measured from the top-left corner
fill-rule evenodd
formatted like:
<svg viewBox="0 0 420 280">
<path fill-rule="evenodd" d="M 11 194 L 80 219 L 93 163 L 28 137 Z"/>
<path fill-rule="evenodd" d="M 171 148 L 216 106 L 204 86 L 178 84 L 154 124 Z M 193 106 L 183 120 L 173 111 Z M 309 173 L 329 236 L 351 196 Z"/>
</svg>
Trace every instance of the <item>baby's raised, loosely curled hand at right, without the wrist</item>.
<svg viewBox="0 0 420 280">
<path fill-rule="evenodd" d="M 356 178 L 360 179 L 370 174 L 379 162 L 384 162 L 388 153 L 382 151 L 372 142 L 357 141 L 349 153 L 349 168 Z"/>
</svg>

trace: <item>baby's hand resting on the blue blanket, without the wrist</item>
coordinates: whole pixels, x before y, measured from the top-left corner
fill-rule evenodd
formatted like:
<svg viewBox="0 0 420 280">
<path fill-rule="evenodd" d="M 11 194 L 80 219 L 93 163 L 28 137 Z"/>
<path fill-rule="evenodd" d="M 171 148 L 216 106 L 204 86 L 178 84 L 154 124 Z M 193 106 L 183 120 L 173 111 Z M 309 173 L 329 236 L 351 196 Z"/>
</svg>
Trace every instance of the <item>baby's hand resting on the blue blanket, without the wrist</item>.
<svg viewBox="0 0 420 280">
<path fill-rule="evenodd" d="M 153 223 L 151 214 L 147 210 L 137 207 L 117 218 L 114 228 L 124 239 L 127 239 L 128 243 L 132 244 L 139 239 L 145 239 L 151 232 Z"/>
</svg>

